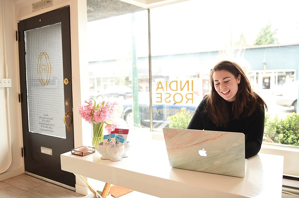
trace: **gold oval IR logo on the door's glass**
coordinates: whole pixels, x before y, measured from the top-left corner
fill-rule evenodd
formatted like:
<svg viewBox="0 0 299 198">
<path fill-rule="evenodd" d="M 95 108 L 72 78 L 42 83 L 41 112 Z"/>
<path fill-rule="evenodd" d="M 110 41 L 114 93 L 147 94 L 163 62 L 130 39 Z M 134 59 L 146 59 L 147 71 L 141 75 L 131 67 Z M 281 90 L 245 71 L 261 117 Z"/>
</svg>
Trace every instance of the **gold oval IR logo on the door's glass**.
<svg viewBox="0 0 299 198">
<path fill-rule="evenodd" d="M 46 86 L 50 82 L 51 63 L 49 61 L 49 55 L 46 52 L 41 52 L 38 56 L 37 74 L 40 84 Z"/>
</svg>

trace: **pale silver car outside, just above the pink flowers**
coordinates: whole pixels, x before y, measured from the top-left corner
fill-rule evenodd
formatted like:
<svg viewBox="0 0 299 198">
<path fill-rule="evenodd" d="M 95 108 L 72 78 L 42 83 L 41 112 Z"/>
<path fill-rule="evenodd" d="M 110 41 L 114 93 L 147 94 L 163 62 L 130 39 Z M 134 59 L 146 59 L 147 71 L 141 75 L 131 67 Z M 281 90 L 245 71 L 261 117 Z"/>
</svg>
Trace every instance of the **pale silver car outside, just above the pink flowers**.
<svg viewBox="0 0 299 198">
<path fill-rule="evenodd" d="M 132 89 L 125 85 L 113 85 L 101 92 L 97 92 L 94 97 L 99 101 L 105 97 L 116 97 L 124 100 L 132 97 Z"/>
</svg>

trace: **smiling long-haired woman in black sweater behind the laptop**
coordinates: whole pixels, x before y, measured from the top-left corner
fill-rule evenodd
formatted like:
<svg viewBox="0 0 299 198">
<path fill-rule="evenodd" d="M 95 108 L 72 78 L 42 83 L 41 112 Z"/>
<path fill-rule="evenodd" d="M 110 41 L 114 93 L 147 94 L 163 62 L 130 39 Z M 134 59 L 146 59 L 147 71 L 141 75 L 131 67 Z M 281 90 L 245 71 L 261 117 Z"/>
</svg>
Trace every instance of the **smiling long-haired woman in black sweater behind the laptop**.
<svg viewBox="0 0 299 198">
<path fill-rule="evenodd" d="M 245 158 L 256 155 L 263 140 L 265 101 L 231 61 L 220 61 L 211 69 L 210 83 L 211 94 L 203 98 L 187 128 L 244 133 Z"/>
</svg>

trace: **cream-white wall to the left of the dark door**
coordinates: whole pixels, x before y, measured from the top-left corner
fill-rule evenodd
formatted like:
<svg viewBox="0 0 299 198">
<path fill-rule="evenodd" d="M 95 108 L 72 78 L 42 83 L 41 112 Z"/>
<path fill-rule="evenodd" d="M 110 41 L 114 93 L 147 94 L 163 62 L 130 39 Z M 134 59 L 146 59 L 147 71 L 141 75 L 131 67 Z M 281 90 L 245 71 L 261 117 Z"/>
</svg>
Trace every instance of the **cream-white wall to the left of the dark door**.
<svg viewBox="0 0 299 198">
<path fill-rule="evenodd" d="M 21 157 L 22 147 L 22 133 L 21 133 L 21 103 L 18 101 L 18 93 L 20 93 L 19 83 L 19 69 L 17 64 L 17 41 L 15 38 L 16 22 L 14 20 L 14 5 L 12 1 L 0 0 L 1 2 L 1 21 L 0 21 L 0 78 L 6 78 L 5 70 L 5 49 L 4 39 L 6 41 L 6 57 L 7 57 L 7 73 L 8 78 L 12 79 L 12 87 L 0 88 L 0 173 L 5 169 L 5 173 L 0 174 L 0 181 L 21 174 L 24 171 L 23 159 Z M 4 18 L 2 17 L 2 5 L 4 4 Z M 4 19 L 4 24 L 2 22 Z M 4 27 L 4 34 L 3 34 Z M 6 96 L 9 96 L 9 100 L 6 100 Z M 7 111 L 7 105 L 9 110 Z M 10 114 L 10 130 L 8 125 L 8 116 Z M 10 163 L 10 148 L 9 141 L 7 140 L 7 134 L 11 132 L 12 142 L 12 164 Z"/>
</svg>

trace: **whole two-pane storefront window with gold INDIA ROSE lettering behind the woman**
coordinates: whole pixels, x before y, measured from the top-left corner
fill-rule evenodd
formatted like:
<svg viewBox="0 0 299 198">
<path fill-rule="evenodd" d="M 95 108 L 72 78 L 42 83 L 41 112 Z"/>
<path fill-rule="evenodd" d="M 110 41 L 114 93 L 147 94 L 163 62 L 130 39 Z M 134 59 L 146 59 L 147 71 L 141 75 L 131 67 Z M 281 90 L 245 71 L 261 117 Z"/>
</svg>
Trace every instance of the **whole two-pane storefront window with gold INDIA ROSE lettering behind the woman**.
<svg viewBox="0 0 299 198">
<path fill-rule="evenodd" d="M 210 92 L 209 72 L 218 61 L 235 61 L 267 103 L 263 141 L 298 146 L 298 129 L 271 128 L 299 122 L 298 4 L 250 1 L 244 9 L 239 1 L 190 0 L 152 8 L 150 61 L 147 10 L 90 21 L 90 95 L 116 99 L 122 127 L 152 122 L 161 131 L 183 108 L 192 115 Z"/>
</svg>

